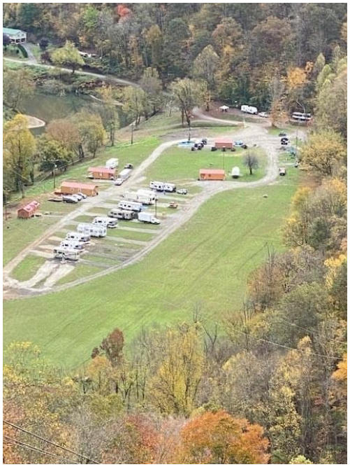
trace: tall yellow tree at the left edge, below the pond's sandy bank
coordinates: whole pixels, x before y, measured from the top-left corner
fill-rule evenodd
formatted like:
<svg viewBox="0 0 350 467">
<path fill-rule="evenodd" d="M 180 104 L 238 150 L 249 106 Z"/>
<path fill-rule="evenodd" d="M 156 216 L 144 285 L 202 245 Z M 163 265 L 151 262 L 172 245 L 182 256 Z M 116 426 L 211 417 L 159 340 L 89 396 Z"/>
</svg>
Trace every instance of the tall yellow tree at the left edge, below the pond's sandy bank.
<svg viewBox="0 0 350 467">
<path fill-rule="evenodd" d="M 33 167 L 36 141 L 28 130 L 28 120 L 18 113 L 3 126 L 3 165 L 13 176 L 15 190 L 24 197 L 24 187 L 29 183 Z"/>
</svg>

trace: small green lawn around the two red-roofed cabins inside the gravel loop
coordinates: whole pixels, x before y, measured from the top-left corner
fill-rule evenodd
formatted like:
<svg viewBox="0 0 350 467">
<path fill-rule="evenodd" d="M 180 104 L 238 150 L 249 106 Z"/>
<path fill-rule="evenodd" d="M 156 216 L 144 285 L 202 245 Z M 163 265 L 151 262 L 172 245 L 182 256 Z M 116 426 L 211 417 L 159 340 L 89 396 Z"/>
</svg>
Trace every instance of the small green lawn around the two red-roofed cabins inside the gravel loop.
<svg viewBox="0 0 350 467">
<path fill-rule="evenodd" d="M 244 165 L 244 156 L 247 150 L 238 149 L 235 152 L 231 151 L 210 151 L 202 149 L 202 151 L 190 151 L 189 148 L 169 148 L 150 166 L 145 176 L 147 182 L 150 180 L 166 180 L 166 181 L 189 181 L 197 180 L 199 169 L 225 169 L 227 179 L 230 179 L 229 172 L 232 167 L 240 167 L 239 181 L 254 181 L 261 179 L 265 173 L 265 154 L 259 148 L 254 150 L 254 153 L 259 158 L 259 168 L 249 175 L 249 170 Z"/>
</svg>

